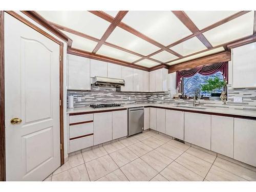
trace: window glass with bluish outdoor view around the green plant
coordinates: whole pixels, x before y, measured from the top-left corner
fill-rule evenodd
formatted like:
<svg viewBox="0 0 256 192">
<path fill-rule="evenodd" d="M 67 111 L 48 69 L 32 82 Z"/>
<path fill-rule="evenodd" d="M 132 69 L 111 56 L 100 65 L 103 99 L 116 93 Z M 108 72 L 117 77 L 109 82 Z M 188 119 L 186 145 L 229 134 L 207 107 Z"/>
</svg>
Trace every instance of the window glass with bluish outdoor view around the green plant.
<svg viewBox="0 0 256 192">
<path fill-rule="evenodd" d="M 201 84 L 204 84 L 205 81 L 209 78 L 215 78 L 218 77 L 221 80 L 223 80 L 222 72 L 217 72 L 212 75 L 201 75 L 197 73 L 194 76 L 191 77 L 184 77 L 183 78 L 183 95 L 188 95 L 189 93 L 195 93 L 196 90 L 200 90 L 200 95 L 203 95 L 205 97 L 209 97 L 210 93 L 201 91 Z M 221 93 L 223 89 L 217 90 L 216 93 Z"/>
</svg>

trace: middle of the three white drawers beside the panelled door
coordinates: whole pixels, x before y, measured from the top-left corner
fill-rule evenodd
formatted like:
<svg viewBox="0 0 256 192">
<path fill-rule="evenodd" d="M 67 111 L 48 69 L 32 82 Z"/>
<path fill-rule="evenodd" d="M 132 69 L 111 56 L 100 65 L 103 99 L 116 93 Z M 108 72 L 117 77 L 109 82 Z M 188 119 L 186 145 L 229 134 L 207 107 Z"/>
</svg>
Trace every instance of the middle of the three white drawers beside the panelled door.
<svg viewBox="0 0 256 192">
<path fill-rule="evenodd" d="M 69 137 L 74 138 L 93 133 L 93 122 L 69 126 Z"/>
</svg>

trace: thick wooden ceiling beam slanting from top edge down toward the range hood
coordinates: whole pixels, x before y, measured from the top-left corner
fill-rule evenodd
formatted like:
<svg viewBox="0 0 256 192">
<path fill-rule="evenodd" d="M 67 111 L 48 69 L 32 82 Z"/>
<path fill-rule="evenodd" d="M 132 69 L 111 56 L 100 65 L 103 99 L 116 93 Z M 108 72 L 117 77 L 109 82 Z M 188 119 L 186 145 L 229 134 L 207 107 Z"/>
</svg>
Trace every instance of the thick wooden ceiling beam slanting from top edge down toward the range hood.
<svg viewBox="0 0 256 192">
<path fill-rule="evenodd" d="M 100 41 L 98 42 L 98 44 L 96 45 L 96 47 L 93 50 L 93 54 L 95 54 L 100 47 L 103 45 L 103 43 L 105 42 L 105 40 L 111 35 L 111 33 L 114 31 L 114 29 L 118 26 L 118 24 L 121 22 L 121 20 L 123 19 L 123 17 L 127 14 L 128 11 L 119 11 L 116 15 L 116 17 L 114 18 L 113 22 L 110 24 L 110 26 L 108 27 L 108 29 L 105 31 L 105 33 L 103 34 L 103 36 L 101 37 Z"/>
</svg>

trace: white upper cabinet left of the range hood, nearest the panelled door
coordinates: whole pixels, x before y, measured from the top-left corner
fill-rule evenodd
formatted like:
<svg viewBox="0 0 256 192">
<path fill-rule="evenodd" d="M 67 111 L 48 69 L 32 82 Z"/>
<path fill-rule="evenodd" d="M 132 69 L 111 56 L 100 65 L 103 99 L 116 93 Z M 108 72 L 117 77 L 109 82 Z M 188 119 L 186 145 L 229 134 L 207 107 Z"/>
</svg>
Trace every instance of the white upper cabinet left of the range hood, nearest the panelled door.
<svg viewBox="0 0 256 192">
<path fill-rule="evenodd" d="M 91 90 L 90 59 L 68 54 L 68 89 Z"/>
</svg>

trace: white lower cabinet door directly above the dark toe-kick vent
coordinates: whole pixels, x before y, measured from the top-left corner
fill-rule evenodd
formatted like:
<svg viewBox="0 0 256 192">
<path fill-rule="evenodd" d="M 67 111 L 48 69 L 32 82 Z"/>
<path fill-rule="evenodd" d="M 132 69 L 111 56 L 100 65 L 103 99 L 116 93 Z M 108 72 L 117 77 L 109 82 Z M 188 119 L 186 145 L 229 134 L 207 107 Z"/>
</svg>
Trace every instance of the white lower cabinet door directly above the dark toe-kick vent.
<svg viewBox="0 0 256 192">
<path fill-rule="evenodd" d="M 184 112 L 165 111 L 165 134 L 184 140 Z"/>
</svg>

